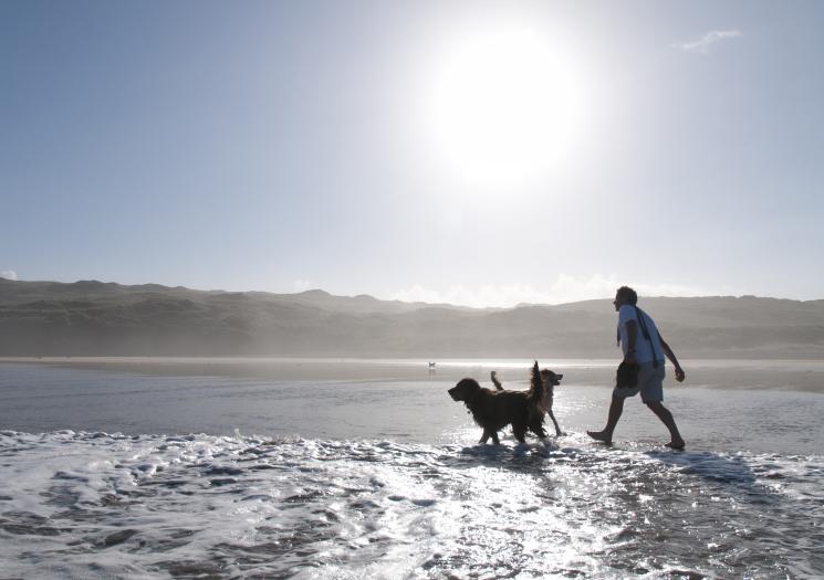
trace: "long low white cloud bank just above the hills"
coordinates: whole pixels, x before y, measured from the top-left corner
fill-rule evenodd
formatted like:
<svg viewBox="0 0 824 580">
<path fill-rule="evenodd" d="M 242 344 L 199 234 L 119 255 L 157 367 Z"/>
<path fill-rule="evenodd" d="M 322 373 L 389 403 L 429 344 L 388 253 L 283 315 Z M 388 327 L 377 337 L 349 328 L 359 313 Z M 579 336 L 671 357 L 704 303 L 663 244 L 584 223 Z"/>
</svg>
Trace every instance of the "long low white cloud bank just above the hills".
<svg viewBox="0 0 824 580">
<path fill-rule="evenodd" d="M 486 284 L 470 288 L 463 285 L 450 286 L 445 291 L 425 288 L 416 284 L 390 296 L 390 299 L 403 302 L 426 302 L 429 304 L 446 303 L 474 308 L 512 307 L 528 304 L 564 304 L 569 302 L 612 298 L 615 289 L 622 285 L 634 287 L 642 296 L 707 296 L 736 294 L 727 288 L 724 292 L 712 292 L 707 288 L 681 284 L 646 284 L 618 280 L 614 274 L 594 274 L 590 277 L 576 277 L 561 274 L 546 287 L 532 284 Z"/>
</svg>

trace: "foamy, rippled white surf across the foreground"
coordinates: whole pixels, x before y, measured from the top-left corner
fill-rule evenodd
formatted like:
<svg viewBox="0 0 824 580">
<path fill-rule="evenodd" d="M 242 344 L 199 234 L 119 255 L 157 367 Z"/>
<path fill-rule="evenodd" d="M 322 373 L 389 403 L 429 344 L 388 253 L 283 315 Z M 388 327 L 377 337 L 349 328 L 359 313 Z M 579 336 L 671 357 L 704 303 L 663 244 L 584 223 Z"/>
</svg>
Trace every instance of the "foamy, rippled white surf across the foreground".
<svg viewBox="0 0 824 580">
<path fill-rule="evenodd" d="M 820 456 L 0 434 L 6 576 L 805 577 Z"/>
</svg>

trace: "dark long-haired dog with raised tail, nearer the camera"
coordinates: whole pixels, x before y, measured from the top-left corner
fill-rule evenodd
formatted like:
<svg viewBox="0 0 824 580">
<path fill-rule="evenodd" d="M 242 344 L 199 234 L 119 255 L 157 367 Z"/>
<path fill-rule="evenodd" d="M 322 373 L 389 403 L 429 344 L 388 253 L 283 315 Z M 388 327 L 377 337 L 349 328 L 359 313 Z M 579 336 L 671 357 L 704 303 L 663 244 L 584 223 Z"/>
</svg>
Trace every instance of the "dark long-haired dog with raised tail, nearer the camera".
<svg viewBox="0 0 824 580">
<path fill-rule="evenodd" d="M 492 437 L 492 442 L 499 445 L 498 431 L 509 424 L 512 425 L 512 434 L 521 443 L 524 442 L 526 431 L 532 431 L 541 439 L 546 437 L 543 429 L 544 411 L 541 408 L 544 388 L 538 361 L 532 367 L 532 384 L 526 391 L 493 391 L 481 387 L 477 380 L 467 378 L 461 379 L 448 392 L 452 400 L 463 401 L 474 422 L 483 428 L 479 443 L 487 443 Z"/>
</svg>

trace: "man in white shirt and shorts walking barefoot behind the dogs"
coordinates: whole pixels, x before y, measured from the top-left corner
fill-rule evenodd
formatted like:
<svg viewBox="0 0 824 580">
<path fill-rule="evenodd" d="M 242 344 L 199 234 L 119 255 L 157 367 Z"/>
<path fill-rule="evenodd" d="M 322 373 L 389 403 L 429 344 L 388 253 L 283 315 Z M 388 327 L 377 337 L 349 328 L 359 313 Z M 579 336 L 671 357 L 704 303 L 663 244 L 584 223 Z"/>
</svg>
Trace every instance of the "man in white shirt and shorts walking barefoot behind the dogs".
<svg viewBox="0 0 824 580">
<path fill-rule="evenodd" d="M 638 363 L 638 384 L 635 388 L 619 387 L 613 390 L 609 414 L 603 431 L 587 431 L 587 434 L 604 443 L 612 443 L 615 425 L 624 411 L 624 400 L 640 392 L 640 400 L 667 425 L 670 434 L 668 447 L 682 450 L 684 439 L 678 432 L 672 413 L 661 404 L 664 400 L 664 356 L 675 366 L 675 379 L 684 380 L 684 369 L 678 363 L 672 349 L 664 340 L 655 321 L 636 304 L 638 295 L 628 287 L 622 286 L 615 293 L 615 309 L 618 313 L 618 341 L 624 350 L 624 362 Z"/>
</svg>

